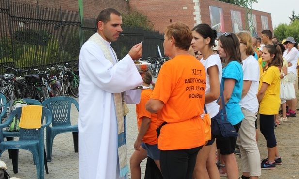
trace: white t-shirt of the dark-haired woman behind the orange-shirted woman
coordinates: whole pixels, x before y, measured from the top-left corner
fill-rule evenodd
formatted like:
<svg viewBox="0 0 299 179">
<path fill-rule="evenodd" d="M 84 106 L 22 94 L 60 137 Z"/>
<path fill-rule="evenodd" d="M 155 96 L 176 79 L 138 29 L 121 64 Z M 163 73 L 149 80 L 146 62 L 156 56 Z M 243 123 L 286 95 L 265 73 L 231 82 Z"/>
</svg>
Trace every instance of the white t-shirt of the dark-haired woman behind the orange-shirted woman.
<svg viewBox="0 0 299 179">
<path fill-rule="evenodd" d="M 205 94 L 209 93 L 211 91 L 210 88 L 210 77 L 207 73 L 207 69 L 211 66 L 217 65 L 218 67 L 218 78 L 219 78 L 219 84 L 221 83 L 221 78 L 222 78 L 222 64 L 221 60 L 218 54 L 213 54 L 210 57 L 208 57 L 206 60 L 203 60 L 203 58 L 200 60 L 202 64 L 205 66 L 205 72 L 206 72 L 206 88 L 205 88 Z M 220 88 L 220 87 L 219 87 Z M 217 100 L 205 104 L 206 110 L 209 113 L 210 117 L 213 118 L 214 116 L 217 115 L 219 112 L 219 105 L 217 104 Z M 204 115 L 202 115 L 203 117 Z"/>
</svg>

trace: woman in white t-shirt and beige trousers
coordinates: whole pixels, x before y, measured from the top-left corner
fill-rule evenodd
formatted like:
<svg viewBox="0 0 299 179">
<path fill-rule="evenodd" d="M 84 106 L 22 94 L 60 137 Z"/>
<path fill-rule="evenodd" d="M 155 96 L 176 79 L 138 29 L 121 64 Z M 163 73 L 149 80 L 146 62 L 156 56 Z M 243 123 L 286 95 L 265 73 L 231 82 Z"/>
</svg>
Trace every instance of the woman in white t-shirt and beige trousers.
<svg viewBox="0 0 299 179">
<path fill-rule="evenodd" d="M 237 145 L 242 156 L 242 179 L 258 179 L 261 175 L 260 152 L 256 143 L 255 121 L 257 119 L 259 78 L 261 68 L 254 58 L 252 36 L 248 32 L 237 33 L 240 41 L 240 52 L 243 69 L 243 90 L 242 99 L 239 102 L 244 115 L 242 120 Z"/>
</svg>

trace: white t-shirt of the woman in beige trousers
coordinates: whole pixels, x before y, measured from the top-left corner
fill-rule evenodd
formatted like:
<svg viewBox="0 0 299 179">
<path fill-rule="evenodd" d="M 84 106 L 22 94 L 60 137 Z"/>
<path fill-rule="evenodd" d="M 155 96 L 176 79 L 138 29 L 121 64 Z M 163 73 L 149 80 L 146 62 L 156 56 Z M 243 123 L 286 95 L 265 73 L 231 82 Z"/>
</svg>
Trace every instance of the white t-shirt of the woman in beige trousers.
<svg viewBox="0 0 299 179">
<path fill-rule="evenodd" d="M 243 60 L 242 63 L 243 80 L 252 82 L 247 95 L 241 99 L 239 104 L 246 110 L 252 113 L 256 113 L 258 111 L 258 100 L 256 94 L 258 92 L 260 66 L 258 64 L 258 61 L 252 55 Z"/>
</svg>

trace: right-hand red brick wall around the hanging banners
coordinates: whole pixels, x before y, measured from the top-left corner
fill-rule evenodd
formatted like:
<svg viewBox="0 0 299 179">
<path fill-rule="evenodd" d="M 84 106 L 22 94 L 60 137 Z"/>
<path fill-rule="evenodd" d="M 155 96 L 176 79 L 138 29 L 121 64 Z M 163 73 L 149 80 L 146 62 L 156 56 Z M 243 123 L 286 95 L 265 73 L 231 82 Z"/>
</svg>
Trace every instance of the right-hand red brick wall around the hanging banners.
<svg viewBox="0 0 299 179">
<path fill-rule="evenodd" d="M 241 21 L 243 30 L 246 28 L 246 9 L 240 6 L 220 2 L 217 0 L 130 0 L 129 5 L 133 8 L 137 8 L 149 17 L 154 23 L 155 30 L 163 32 L 164 28 L 170 24 L 170 19 L 172 22 L 184 22 L 190 28 L 194 27 L 196 7 L 198 3 L 200 4 L 200 16 L 201 22 L 211 24 L 209 5 L 220 7 L 223 10 L 224 15 L 224 27 L 225 31 L 233 31 L 232 20 L 231 20 L 231 10 L 241 12 Z M 261 35 L 262 22 L 261 15 L 268 17 L 269 29 L 273 31 L 272 19 L 270 13 L 265 13 L 261 11 L 252 10 L 252 14 L 256 15 L 257 32 L 258 36 Z"/>
</svg>

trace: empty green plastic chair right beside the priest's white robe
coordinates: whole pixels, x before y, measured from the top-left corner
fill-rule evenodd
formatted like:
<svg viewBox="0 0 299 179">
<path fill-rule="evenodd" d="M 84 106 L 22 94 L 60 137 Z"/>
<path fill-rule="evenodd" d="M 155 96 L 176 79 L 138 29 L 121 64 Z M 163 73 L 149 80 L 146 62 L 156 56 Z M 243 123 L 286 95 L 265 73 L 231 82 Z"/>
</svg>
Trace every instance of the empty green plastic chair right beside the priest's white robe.
<svg viewBox="0 0 299 179">
<path fill-rule="evenodd" d="M 47 161 L 52 160 L 53 140 L 57 134 L 72 132 L 74 151 L 78 152 L 78 125 L 71 124 L 71 105 L 79 111 L 78 102 L 71 97 L 57 96 L 43 101 L 42 105 L 52 113 L 52 126 L 46 127 Z"/>
</svg>

